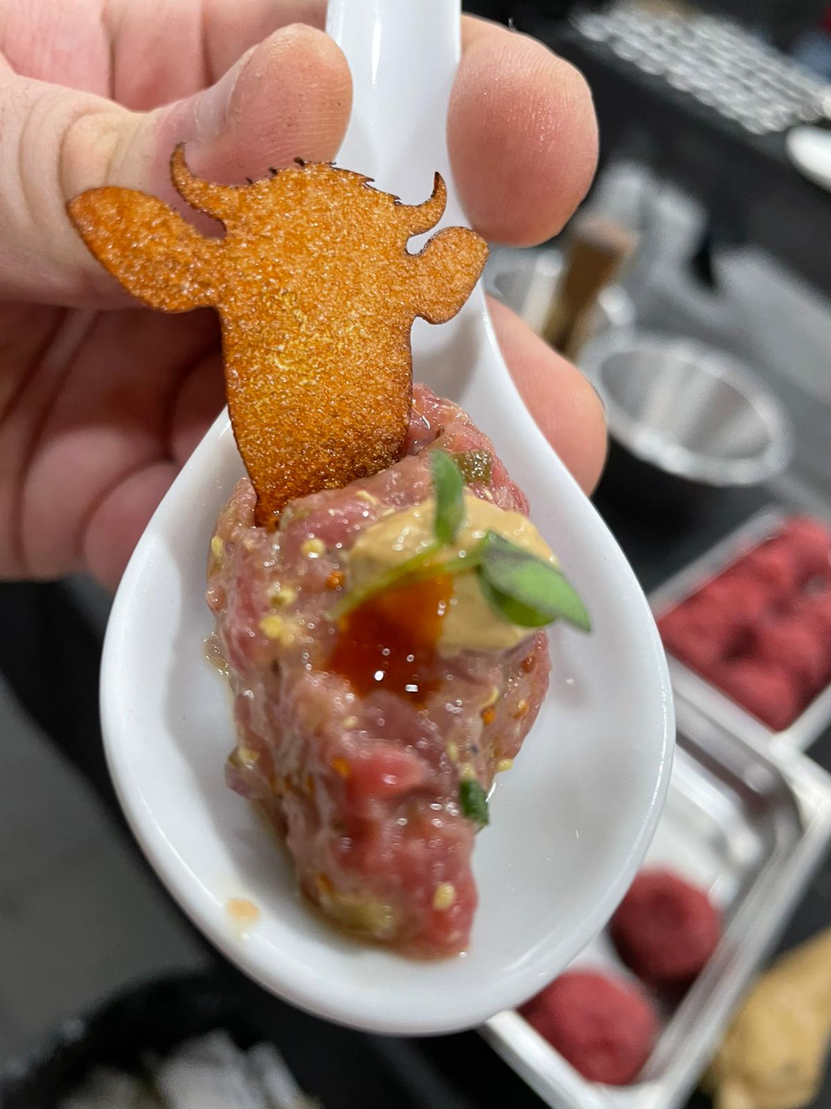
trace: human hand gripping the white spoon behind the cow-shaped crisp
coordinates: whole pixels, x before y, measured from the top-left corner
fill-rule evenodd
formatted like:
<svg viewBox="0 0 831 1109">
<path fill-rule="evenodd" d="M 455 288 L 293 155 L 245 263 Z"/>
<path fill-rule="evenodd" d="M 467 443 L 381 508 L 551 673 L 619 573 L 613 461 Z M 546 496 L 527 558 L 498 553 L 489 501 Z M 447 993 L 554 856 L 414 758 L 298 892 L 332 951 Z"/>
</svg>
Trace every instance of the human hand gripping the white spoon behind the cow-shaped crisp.
<svg viewBox="0 0 831 1109">
<path fill-rule="evenodd" d="M 214 314 L 134 306 L 66 201 L 115 184 L 176 203 L 177 142 L 194 173 L 225 183 L 335 157 L 351 85 L 324 13 L 324 0 L 0 9 L 0 574 L 89 570 L 114 587 L 224 403 Z M 587 88 L 540 43 L 481 20 L 465 17 L 463 47 L 448 139 L 465 211 L 491 241 L 541 242 L 594 172 Z M 491 307 L 522 396 L 591 489 L 605 455 L 594 390 Z"/>
</svg>

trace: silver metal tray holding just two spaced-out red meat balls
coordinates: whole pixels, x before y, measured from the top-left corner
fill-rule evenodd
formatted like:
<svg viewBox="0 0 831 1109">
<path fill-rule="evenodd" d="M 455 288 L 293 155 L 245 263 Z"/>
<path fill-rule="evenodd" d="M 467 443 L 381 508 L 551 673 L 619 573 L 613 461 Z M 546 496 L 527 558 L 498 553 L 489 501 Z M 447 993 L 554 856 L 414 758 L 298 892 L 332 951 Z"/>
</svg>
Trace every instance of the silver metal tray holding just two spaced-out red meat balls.
<svg viewBox="0 0 831 1109">
<path fill-rule="evenodd" d="M 831 840 L 831 776 L 807 755 L 732 735 L 683 700 L 676 712 L 673 779 L 648 862 L 708 889 L 725 932 L 633 1086 L 587 1082 L 516 1011 L 488 1021 L 492 1047 L 556 1109 L 681 1105 Z M 605 935 L 575 964 L 630 977 Z"/>
</svg>

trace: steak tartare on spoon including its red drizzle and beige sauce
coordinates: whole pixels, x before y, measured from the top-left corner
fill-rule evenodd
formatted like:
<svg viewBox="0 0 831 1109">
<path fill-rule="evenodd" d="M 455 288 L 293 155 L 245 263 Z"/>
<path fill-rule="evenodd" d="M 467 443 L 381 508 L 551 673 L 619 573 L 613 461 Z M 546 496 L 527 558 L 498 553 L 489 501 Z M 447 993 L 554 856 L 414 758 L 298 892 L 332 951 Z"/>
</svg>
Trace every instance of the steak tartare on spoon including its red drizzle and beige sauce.
<svg viewBox="0 0 831 1109">
<path fill-rule="evenodd" d="M 490 440 L 416 386 L 406 454 L 389 469 L 291 501 L 274 530 L 255 527 L 240 480 L 211 543 L 207 592 L 234 693 L 228 784 L 285 836 L 329 917 L 420 956 L 468 945 L 471 853 L 486 820 L 476 800 L 510 767 L 548 682 L 545 633 L 464 593 L 472 573 L 331 615 L 361 576 L 383 570 L 387 548 L 403 558 L 418 541 L 435 447 L 464 478 L 469 527 L 481 516 L 550 557 Z"/>
</svg>

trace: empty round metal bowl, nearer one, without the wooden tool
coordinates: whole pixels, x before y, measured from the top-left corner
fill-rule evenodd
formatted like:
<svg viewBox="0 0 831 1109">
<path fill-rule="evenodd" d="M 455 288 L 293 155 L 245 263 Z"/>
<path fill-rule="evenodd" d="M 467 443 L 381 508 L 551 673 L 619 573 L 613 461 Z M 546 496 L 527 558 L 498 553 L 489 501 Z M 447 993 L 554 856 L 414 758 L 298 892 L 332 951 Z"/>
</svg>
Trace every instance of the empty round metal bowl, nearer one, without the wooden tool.
<svg viewBox="0 0 831 1109">
<path fill-rule="evenodd" d="M 616 329 L 589 343 L 581 365 L 606 405 L 613 442 L 653 472 L 735 488 L 769 481 L 790 462 L 782 406 L 722 350 Z"/>
</svg>

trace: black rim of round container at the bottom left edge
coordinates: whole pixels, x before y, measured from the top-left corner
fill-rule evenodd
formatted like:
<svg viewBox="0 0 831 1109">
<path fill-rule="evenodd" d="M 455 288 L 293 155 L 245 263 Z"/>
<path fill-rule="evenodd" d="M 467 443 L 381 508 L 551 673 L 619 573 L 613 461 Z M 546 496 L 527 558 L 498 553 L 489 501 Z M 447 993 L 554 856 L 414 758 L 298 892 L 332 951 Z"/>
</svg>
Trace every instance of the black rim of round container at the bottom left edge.
<svg viewBox="0 0 831 1109">
<path fill-rule="evenodd" d="M 153 1058 L 218 1028 L 243 1049 L 264 1040 L 277 1044 L 298 1082 L 327 1107 L 472 1109 L 412 1045 L 324 1024 L 229 967 L 145 984 L 71 1021 L 27 1075 L 7 1077 L 1 1103 L 3 1109 L 55 1109 L 96 1067 L 141 1075 Z"/>
</svg>

